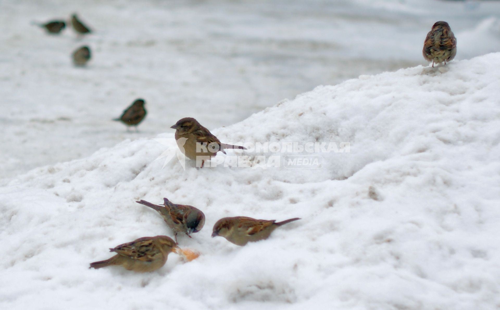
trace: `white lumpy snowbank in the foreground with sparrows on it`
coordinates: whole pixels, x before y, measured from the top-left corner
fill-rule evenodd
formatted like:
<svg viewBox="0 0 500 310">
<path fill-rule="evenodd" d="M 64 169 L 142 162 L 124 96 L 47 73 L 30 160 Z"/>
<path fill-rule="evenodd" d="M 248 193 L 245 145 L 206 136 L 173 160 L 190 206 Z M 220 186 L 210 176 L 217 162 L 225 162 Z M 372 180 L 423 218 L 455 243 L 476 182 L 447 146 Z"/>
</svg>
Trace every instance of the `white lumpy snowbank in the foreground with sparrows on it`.
<svg viewBox="0 0 500 310">
<path fill-rule="evenodd" d="M 161 169 L 165 147 L 138 138 L 19 176 L 0 189 L 0 308 L 498 309 L 499 68 L 493 53 L 362 75 L 213 130 L 234 143 L 350 142 L 314 171 Z M 88 269 L 110 247 L 171 235 L 134 202 L 162 197 L 205 213 L 179 237 L 198 259 Z M 236 215 L 302 219 L 245 247 L 210 238 Z"/>
</svg>

